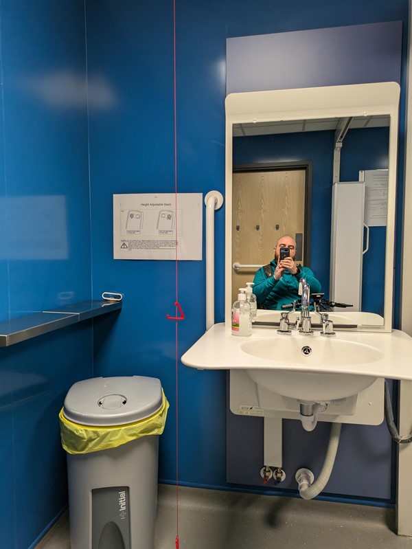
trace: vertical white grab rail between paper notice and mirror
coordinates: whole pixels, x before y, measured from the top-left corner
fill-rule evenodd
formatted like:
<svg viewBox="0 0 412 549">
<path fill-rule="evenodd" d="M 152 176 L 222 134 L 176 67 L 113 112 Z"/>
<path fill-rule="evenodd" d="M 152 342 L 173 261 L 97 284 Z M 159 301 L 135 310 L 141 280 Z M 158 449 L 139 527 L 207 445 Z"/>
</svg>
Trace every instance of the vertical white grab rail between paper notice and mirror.
<svg viewBox="0 0 412 549">
<path fill-rule="evenodd" d="M 214 325 L 214 211 L 223 203 L 218 190 L 205 196 L 206 204 L 206 330 Z"/>
</svg>

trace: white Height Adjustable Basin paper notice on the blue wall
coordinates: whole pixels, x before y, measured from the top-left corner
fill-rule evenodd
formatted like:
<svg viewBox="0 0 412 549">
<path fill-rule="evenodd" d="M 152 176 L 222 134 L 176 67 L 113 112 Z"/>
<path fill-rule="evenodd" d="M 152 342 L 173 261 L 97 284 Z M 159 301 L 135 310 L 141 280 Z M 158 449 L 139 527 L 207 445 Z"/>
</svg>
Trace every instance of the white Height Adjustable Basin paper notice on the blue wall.
<svg viewBox="0 0 412 549">
<path fill-rule="evenodd" d="M 114 259 L 202 259 L 202 194 L 113 194 Z"/>
</svg>

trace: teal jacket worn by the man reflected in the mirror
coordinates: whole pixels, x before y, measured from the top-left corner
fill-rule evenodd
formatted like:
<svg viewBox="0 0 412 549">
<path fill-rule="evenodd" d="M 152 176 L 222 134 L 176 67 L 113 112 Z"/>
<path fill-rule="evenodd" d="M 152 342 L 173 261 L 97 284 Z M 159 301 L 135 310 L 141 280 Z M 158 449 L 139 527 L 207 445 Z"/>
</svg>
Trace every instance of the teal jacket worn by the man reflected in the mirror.
<svg viewBox="0 0 412 549">
<path fill-rule="evenodd" d="M 272 260 L 270 265 L 273 274 L 276 269 L 275 260 Z M 309 267 L 299 267 L 299 269 L 300 273 L 296 275 L 285 271 L 279 280 L 275 280 L 273 276 L 268 278 L 263 267 L 259 269 L 253 278 L 253 293 L 261 309 L 281 309 L 282 305 L 299 300 L 300 296 L 297 290 L 301 278 L 306 278 L 306 282 L 310 286 L 310 293 L 321 291 L 321 283 L 315 278 Z"/>
</svg>

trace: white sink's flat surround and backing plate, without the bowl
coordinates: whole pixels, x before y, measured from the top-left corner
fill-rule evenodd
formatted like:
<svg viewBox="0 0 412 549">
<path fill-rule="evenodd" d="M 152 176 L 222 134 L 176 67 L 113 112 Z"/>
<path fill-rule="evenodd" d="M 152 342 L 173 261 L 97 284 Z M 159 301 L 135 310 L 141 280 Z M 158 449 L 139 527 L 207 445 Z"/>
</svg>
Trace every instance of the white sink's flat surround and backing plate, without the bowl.
<svg viewBox="0 0 412 549">
<path fill-rule="evenodd" d="M 274 346 L 287 345 L 289 338 L 298 338 L 302 346 L 322 337 L 320 331 L 313 335 L 300 335 L 293 330 L 290 335 L 278 335 L 275 330 L 253 328 L 250 337 L 235 337 L 225 324 L 214 324 L 198 339 L 182 357 L 186 366 L 201 370 L 230 370 L 230 407 L 234 414 L 299 419 L 295 399 L 287 399 L 275 392 L 265 391 L 247 374 L 253 368 L 290 370 L 295 372 L 339 373 L 368 375 L 377 378 L 372 385 L 352 396 L 341 406 L 328 406 L 319 414 L 319 421 L 379 425 L 383 421 L 384 379 L 412 380 L 412 338 L 400 330 L 391 333 L 338 332 L 336 341 L 353 341 L 377 348 L 382 358 L 361 364 L 306 365 L 304 361 L 282 363 L 249 355 L 242 350 L 245 341 L 273 339 Z M 333 341 L 331 340 L 331 344 Z M 247 408 L 249 407 L 249 410 Z"/>
</svg>

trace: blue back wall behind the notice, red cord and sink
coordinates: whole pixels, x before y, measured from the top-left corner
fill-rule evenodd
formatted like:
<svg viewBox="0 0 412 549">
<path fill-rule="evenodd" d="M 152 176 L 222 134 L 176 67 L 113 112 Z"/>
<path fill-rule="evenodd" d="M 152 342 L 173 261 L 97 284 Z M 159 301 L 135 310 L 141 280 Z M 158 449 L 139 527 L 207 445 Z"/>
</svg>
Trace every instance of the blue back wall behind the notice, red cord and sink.
<svg viewBox="0 0 412 549">
<path fill-rule="evenodd" d="M 407 19 L 407 0 L 391 5 L 367 0 L 361 8 L 350 0 L 339 9 L 321 0 L 310 5 L 301 0 L 177 0 L 178 190 L 224 192 L 227 37 L 402 21 L 405 54 Z M 95 355 L 95 373 L 161 379 L 171 409 L 161 437 L 159 472 L 161 480 L 170 481 L 175 478 L 175 330 L 165 315 L 174 312 L 174 264 L 113 260 L 111 219 L 112 194 L 174 191 L 172 38 L 172 3 L 159 10 L 159 6 L 131 0 L 87 2 L 89 82 L 100 82 L 113 98 L 99 106 L 93 100 L 98 87 L 90 92 L 93 296 L 109 289 L 125 295 L 109 341 L 106 330 L 95 330 L 95 343 L 104 349 Z M 223 227 L 220 210 L 216 214 L 216 322 L 223 320 Z M 322 244 L 319 240 L 315 245 Z M 204 262 L 179 262 L 178 285 L 186 314 L 179 323 L 180 356 L 205 330 Z M 225 414 L 225 374 L 198 372 L 179 364 L 181 482 L 226 486 Z M 347 437 L 348 447 L 355 438 Z M 388 446 L 385 432 L 380 442 Z M 389 452 L 385 467 L 390 475 Z M 334 493 L 339 493 L 339 482 Z"/>
</svg>

